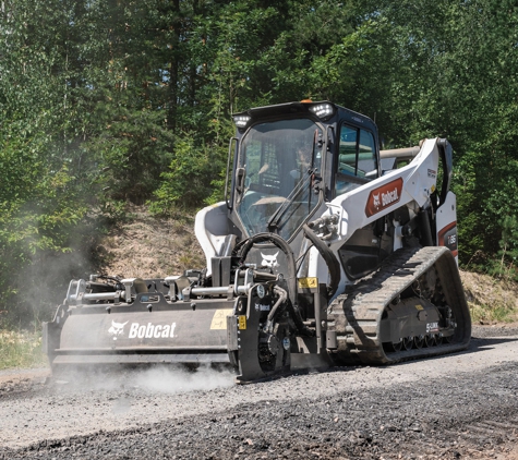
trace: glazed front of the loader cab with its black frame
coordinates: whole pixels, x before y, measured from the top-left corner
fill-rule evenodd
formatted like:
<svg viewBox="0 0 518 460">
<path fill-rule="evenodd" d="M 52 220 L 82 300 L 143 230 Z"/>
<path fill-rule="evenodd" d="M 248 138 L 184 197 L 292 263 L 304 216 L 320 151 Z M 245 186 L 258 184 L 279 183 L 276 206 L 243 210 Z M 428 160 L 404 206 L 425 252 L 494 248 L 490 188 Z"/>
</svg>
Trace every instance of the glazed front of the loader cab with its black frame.
<svg viewBox="0 0 518 460">
<path fill-rule="evenodd" d="M 246 124 L 238 124 L 231 218 L 248 237 L 274 232 L 290 242 L 324 202 L 326 126 L 308 109 L 286 109 L 238 116 Z"/>
</svg>

